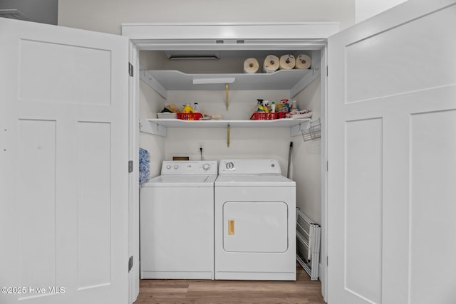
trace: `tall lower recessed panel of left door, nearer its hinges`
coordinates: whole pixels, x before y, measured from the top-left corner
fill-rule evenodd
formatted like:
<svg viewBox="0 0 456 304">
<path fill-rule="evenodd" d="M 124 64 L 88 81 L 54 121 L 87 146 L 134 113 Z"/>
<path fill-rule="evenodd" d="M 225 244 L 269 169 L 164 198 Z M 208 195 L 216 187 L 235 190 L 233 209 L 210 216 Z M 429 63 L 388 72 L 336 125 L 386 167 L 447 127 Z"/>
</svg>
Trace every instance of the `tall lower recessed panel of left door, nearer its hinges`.
<svg viewBox="0 0 456 304">
<path fill-rule="evenodd" d="M 84 289 L 110 284 L 112 132 L 106 122 L 77 125 L 78 289 Z"/>
</svg>

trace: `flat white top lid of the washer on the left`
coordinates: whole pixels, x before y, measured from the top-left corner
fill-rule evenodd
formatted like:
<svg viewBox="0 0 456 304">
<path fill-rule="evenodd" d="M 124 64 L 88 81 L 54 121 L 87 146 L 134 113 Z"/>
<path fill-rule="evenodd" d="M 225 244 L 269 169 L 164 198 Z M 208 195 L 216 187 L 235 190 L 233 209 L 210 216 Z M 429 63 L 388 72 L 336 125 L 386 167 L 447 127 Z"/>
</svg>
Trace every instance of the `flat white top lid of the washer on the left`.
<svg viewBox="0 0 456 304">
<path fill-rule="evenodd" d="M 217 175 L 160 175 L 142 187 L 214 187 Z"/>
</svg>

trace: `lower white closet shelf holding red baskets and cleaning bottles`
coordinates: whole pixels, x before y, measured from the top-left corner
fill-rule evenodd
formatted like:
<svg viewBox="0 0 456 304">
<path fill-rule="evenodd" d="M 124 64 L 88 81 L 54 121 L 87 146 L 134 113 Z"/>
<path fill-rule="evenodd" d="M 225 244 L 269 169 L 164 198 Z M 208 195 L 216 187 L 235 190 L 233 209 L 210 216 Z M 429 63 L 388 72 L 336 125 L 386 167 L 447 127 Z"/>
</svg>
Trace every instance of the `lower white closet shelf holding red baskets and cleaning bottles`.
<svg viewBox="0 0 456 304">
<path fill-rule="evenodd" d="M 166 136 L 167 127 L 185 128 L 224 128 L 224 127 L 289 127 L 292 135 L 294 129 L 300 130 L 301 125 L 308 125 L 310 118 L 294 120 L 284 118 L 279 120 L 177 120 L 151 118 L 140 120 L 141 132 Z M 301 134 L 301 133 L 299 133 Z"/>
</svg>

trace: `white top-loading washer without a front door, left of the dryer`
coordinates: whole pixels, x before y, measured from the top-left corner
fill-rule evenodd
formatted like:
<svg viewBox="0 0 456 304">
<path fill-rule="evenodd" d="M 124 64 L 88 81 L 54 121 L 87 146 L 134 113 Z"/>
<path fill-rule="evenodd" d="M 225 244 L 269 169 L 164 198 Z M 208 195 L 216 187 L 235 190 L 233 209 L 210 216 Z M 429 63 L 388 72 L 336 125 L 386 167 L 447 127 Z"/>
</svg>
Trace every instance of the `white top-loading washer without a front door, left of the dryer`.
<svg viewBox="0 0 456 304">
<path fill-rule="evenodd" d="M 217 161 L 165 161 L 140 188 L 141 278 L 214 279 Z"/>
</svg>

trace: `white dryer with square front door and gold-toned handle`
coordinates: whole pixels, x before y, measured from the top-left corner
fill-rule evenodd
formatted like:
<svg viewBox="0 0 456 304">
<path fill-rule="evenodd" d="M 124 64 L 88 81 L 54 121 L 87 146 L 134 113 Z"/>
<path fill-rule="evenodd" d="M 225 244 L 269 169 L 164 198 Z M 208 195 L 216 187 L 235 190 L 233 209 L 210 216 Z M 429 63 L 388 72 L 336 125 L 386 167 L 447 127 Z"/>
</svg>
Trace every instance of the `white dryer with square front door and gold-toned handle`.
<svg viewBox="0 0 456 304">
<path fill-rule="evenodd" d="M 296 183 L 276 159 L 223 159 L 214 183 L 215 279 L 296 281 Z"/>
</svg>

